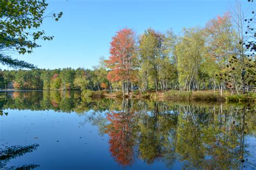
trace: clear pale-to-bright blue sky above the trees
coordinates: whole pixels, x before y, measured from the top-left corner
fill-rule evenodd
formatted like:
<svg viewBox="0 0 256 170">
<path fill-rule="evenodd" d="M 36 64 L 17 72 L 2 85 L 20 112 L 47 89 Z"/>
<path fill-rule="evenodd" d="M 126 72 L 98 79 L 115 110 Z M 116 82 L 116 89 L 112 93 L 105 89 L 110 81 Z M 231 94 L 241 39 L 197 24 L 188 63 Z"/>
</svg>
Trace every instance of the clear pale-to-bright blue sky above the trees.
<svg viewBox="0 0 256 170">
<path fill-rule="evenodd" d="M 241 0 L 247 5 L 247 0 Z M 38 68 L 92 68 L 100 56 L 109 56 L 111 37 L 124 27 L 137 34 L 148 27 L 160 32 L 172 28 L 205 26 L 223 15 L 235 0 L 48 0 L 46 13 L 63 11 L 59 22 L 46 18 L 42 29 L 53 41 L 38 41 L 32 54 L 12 54 Z M 2 69 L 7 67 L 0 66 Z"/>
</svg>

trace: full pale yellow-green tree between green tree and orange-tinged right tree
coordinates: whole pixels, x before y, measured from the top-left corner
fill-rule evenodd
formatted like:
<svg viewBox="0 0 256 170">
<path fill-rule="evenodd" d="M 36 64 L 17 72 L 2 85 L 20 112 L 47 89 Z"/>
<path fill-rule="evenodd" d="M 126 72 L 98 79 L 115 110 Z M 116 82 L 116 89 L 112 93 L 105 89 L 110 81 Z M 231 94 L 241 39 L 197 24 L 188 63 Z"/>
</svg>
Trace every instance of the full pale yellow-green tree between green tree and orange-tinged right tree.
<svg viewBox="0 0 256 170">
<path fill-rule="evenodd" d="M 180 37 L 176 48 L 180 89 L 194 90 L 204 61 L 205 39 L 202 30 L 197 27 L 183 29 L 183 37 Z"/>
</svg>

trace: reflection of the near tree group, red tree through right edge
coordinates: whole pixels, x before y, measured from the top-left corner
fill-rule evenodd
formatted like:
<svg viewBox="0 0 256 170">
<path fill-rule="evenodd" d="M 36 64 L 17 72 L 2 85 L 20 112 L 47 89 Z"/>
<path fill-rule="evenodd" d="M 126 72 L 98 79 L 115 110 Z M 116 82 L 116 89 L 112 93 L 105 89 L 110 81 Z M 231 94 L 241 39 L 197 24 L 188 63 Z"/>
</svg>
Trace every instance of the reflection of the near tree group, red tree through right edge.
<svg viewBox="0 0 256 170">
<path fill-rule="evenodd" d="M 246 160 L 250 151 L 247 151 L 244 132 L 253 133 L 244 122 L 255 118 L 248 107 L 223 104 L 199 107 L 149 101 L 122 106 L 125 107 L 120 111 L 107 115 L 110 123 L 105 126 L 110 136 L 110 151 L 122 165 L 130 165 L 132 156 L 121 156 L 132 154 L 134 148 L 138 148 L 138 157 L 147 164 L 158 160 L 172 167 L 178 160 L 184 168 L 255 168 Z M 121 144 L 124 144 L 123 150 Z"/>
</svg>

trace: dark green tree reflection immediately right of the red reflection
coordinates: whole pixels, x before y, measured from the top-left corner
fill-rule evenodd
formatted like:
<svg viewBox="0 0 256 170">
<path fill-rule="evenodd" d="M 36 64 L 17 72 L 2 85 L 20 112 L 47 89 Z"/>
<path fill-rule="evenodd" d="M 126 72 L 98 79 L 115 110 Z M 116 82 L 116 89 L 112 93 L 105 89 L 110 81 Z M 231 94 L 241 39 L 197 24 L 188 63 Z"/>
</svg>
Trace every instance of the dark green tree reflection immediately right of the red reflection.
<svg viewBox="0 0 256 170">
<path fill-rule="evenodd" d="M 140 131 L 138 138 L 139 157 L 147 164 L 152 164 L 154 160 L 159 160 L 166 154 L 169 157 L 172 155 L 169 137 L 173 133 L 171 129 L 176 125 L 176 116 L 169 111 L 163 102 L 149 103 L 143 112 L 144 114 L 140 115 L 138 121 Z"/>
</svg>

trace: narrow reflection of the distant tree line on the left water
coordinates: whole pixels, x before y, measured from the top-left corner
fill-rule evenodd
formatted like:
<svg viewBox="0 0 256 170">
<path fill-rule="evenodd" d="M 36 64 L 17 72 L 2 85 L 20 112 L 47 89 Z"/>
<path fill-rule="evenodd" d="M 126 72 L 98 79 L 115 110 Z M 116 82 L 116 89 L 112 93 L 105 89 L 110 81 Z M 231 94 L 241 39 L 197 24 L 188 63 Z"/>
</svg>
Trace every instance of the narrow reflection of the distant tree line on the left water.
<svg viewBox="0 0 256 170">
<path fill-rule="evenodd" d="M 80 91 L 18 91 L 2 95 L 5 96 L 3 109 L 75 111 L 78 114 L 84 114 L 91 109 L 104 110 L 109 107 L 110 102 L 83 98 Z"/>
</svg>

